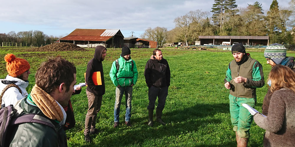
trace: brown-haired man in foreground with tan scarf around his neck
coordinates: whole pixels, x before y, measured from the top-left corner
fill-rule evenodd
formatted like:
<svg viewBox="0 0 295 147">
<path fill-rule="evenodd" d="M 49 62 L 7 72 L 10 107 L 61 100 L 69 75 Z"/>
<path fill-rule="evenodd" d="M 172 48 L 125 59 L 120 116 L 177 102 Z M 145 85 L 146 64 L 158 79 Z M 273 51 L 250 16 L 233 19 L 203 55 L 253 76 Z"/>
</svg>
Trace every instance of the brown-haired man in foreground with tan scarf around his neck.
<svg viewBox="0 0 295 147">
<path fill-rule="evenodd" d="M 55 130 L 40 123 L 19 124 L 8 133 L 6 146 L 68 146 L 63 129 L 66 118 L 63 106 L 68 105 L 75 92 L 76 67 L 58 56 L 41 64 L 35 78 L 35 86 L 28 96 L 17 102 L 13 117 L 34 113 L 53 124 Z"/>
</svg>

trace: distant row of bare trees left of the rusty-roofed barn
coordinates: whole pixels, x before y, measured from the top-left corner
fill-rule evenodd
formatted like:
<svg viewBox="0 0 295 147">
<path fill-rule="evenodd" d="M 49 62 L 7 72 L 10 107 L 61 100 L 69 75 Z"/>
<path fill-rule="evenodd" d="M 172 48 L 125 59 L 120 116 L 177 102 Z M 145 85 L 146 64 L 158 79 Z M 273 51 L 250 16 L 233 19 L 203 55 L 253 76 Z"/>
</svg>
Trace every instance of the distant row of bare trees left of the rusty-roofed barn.
<svg viewBox="0 0 295 147">
<path fill-rule="evenodd" d="M 42 44 L 51 44 L 54 43 L 57 39 L 61 38 L 57 36 L 48 36 L 42 31 L 20 31 L 16 33 L 15 31 L 10 31 L 9 33 L 0 33 L 0 44 L 2 42 L 11 42 L 11 43 L 22 43 L 22 45 L 33 45 L 41 46 Z"/>
</svg>

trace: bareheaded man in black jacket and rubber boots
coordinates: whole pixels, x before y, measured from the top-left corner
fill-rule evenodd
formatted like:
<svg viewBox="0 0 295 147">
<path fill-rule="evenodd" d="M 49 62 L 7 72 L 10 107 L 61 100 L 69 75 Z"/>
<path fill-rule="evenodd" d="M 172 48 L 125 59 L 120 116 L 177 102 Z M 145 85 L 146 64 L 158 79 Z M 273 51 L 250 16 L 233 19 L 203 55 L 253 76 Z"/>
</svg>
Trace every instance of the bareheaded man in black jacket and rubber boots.
<svg viewBox="0 0 295 147">
<path fill-rule="evenodd" d="M 162 121 L 161 117 L 170 86 L 170 68 L 167 60 L 163 59 L 160 49 L 153 51 L 153 55 L 145 65 L 144 75 L 145 82 L 148 85 L 148 125 L 153 126 L 153 113 L 157 96 L 156 118 L 159 123 L 165 125 L 166 123 Z"/>
</svg>

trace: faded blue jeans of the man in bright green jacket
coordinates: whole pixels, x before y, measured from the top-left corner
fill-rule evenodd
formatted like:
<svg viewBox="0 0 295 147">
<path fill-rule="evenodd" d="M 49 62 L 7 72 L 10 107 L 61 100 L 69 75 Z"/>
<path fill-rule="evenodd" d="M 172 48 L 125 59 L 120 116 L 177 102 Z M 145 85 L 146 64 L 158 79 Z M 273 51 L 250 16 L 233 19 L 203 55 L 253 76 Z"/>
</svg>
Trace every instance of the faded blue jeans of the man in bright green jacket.
<svg viewBox="0 0 295 147">
<path fill-rule="evenodd" d="M 114 106 L 114 121 L 119 122 L 119 114 L 120 114 L 120 105 L 123 97 L 123 93 L 125 92 L 125 100 L 126 100 L 126 114 L 125 121 L 130 121 L 131 117 L 131 98 L 132 98 L 132 86 L 127 87 L 116 87 L 116 100 Z"/>
</svg>

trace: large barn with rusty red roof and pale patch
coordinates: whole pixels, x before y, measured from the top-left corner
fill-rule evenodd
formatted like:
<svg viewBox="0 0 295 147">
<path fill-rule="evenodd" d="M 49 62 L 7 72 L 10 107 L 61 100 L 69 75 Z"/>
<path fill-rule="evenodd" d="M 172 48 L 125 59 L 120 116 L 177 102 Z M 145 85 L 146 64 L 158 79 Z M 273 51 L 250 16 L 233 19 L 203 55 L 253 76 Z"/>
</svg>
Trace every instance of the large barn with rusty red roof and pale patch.
<svg viewBox="0 0 295 147">
<path fill-rule="evenodd" d="M 76 45 L 103 45 L 107 48 L 122 48 L 124 36 L 119 29 L 75 29 L 68 36 L 59 39 L 60 42 L 68 42 Z"/>
</svg>

